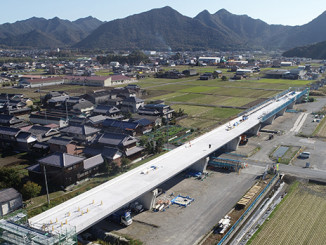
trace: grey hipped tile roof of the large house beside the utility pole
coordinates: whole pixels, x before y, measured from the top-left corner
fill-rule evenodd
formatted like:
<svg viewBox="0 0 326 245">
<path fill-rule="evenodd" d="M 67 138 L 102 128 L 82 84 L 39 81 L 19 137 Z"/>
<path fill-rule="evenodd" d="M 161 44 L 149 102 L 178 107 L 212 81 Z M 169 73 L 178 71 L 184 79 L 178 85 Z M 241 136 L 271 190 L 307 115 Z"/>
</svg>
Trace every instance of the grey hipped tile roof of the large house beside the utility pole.
<svg viewBox="0 0 326 245">
<path fill-rule="evenodd" d="M 83 161 L 84 157 L 74 156 L 67 153 L 56 152 L 39 160 L 39 163 L 59 168 L 65 168 Z"/>
</svg>

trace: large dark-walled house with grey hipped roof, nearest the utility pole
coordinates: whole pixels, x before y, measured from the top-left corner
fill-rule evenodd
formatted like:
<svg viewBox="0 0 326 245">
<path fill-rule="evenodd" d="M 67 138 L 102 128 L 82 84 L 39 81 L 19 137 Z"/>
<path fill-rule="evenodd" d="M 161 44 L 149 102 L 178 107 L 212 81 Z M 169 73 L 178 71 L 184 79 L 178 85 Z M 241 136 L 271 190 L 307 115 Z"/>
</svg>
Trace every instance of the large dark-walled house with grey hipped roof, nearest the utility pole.
<svg viewBox="0 0 326 245">
<path fill-rule="evenodd" d="M 56 152 L 41 158 L 38 164 L 28 167 L 30 178 L 39 180 L 39 176 L 47 176 L 49 186 L 67 187 L 77 181 L 85 179 L 98 172 L 99 166 L 103 164 L 103 157 L 95 155 L 91 158 Z"/>
</svg>

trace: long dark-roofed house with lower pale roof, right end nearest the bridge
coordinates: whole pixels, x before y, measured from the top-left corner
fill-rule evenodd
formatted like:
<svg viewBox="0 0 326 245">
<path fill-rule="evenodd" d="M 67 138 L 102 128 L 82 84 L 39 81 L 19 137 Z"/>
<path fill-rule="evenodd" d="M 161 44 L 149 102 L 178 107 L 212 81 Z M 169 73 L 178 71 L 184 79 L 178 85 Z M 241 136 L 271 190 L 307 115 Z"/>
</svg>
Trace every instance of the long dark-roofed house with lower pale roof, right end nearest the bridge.
<svg viewBox="0 0 326 245">
<path fill-rule="evenodd" d="M 123 156 L 134 160 L 141 157 L 143 147 L 137 146 L 138 139 L 119 133 L 104 133 L 99 136 L 97 143 L 102 147 L 113 147 L 119 149 Z"/>
</svg>

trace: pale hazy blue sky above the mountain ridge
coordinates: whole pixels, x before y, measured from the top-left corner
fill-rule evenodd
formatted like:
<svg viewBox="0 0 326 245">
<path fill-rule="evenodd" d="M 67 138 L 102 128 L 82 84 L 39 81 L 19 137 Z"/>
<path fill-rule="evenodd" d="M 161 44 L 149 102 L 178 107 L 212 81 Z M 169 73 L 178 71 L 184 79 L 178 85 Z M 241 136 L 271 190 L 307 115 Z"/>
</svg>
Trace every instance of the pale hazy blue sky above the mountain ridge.
<svg viewBox="0 0 326 245">
<path fill-rule="evenodd" d="M 268 24 L 302 25 L 326 10 L 326 0 L 1 0 L 0 24 L 33 16 L 76 20 L 91 15 L 110 21 L 164 6 L 189 17 L 205 9 L 215 13 L 225 8 Z"/>
</svg>

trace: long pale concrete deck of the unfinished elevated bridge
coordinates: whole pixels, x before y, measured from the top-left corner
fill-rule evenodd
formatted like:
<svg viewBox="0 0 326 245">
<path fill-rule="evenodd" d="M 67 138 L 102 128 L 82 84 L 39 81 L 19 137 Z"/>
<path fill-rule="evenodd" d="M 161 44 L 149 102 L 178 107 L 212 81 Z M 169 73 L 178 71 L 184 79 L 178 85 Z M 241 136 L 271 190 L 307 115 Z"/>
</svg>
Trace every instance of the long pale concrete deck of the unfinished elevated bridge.
<svg viewBox="0 0 326 245">
<path fill-rule="evenodd" d="M 296 100 L 298 96 L 300 92 L 288 92 L 278 99 L 270 100 L 248 112 L 247 120 L 240 122 L 242 116 L 237 117 L 189 143 L 29 219 L 29 224 L 52 233 L 61 233 L 73 226 L 80 233 L 194 163 L 206 159 L 228 142 L 237 145 L 241 134 L 260 125 L 263 118 L 266 120 L 266 115 L 277 113 L 278 108 Z M 227 130 L 234 124 L 238 125 Z"/>
</svg>

